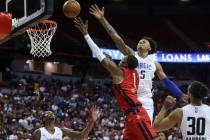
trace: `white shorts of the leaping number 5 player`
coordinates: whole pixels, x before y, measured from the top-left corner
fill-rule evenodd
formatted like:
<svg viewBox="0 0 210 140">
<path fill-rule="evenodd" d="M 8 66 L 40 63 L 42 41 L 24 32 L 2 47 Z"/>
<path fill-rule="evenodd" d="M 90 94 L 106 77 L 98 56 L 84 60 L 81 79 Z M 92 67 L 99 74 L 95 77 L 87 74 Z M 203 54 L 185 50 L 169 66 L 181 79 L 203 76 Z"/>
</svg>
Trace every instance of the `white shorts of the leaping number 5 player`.
<svg viewBox="0 0 210 140">
<path fill-rule="evenodd" d="M 153 121 L 153 114 L 154 114 L 154 102 L 153 99 L 150 97 L 138 97 L 139 101 L 142 103 L 142 106 L 147 111 L 151 123 Z"/>
</svg>

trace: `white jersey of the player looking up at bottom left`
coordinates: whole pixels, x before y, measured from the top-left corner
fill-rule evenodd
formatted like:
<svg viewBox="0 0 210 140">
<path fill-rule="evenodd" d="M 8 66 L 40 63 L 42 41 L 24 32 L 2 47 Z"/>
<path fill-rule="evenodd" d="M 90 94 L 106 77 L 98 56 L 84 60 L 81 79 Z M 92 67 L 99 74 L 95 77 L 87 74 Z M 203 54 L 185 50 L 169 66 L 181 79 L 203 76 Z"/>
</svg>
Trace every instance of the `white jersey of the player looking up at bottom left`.
<svg viewBox="0 0 210 140">
<path fill-rule="evenodd" d="M 54 134 L 49 133 L 44 127 L 39 128 L 41 131 L 41 139 L 40 140 L 62 140 L 63 132 L 60 128 L 55 127 Z"/>
</svg>

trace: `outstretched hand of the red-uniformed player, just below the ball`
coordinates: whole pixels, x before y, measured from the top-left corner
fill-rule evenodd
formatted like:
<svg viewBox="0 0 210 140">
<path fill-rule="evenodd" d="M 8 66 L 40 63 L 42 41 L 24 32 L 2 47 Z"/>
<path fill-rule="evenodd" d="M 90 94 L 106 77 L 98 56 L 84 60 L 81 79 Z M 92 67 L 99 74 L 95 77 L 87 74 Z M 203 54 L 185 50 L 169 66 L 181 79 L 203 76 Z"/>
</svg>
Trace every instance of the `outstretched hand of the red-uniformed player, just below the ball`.
<svg viewBox="0 0 210 140">
<path fill-rule="evenodd" d="M 74 26 L 83 34 L 88 34 L 88 20 L 85 23 L 80 17 L 74 19 Z"/>
</svg>

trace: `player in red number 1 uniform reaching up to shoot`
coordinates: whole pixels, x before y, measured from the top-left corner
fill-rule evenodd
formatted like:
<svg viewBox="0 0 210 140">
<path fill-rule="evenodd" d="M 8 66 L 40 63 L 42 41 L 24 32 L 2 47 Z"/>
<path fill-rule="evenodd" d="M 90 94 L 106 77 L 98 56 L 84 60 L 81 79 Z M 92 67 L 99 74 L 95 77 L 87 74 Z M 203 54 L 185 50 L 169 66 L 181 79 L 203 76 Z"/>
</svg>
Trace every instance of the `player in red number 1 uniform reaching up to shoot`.
<svg viewBox="0 0 210 140">
<path fill-rule="evenodd" d="M 101 52 L 89 36 L 88 21 L 83 23 L 81 18 L 76 18 L 74 23 L 75 27 L 84 35 L 91 51 L 112 76 L 114 94 L 119 107 L 126 115 L 123 139 L 155 139 L 157 134 L 151 127 L 150 118 L 137 98 L 139 77 L 135 68 L 138 65 L 138 60 L 133 55 L 128 55 L 117 66 Z"/>
</svg>

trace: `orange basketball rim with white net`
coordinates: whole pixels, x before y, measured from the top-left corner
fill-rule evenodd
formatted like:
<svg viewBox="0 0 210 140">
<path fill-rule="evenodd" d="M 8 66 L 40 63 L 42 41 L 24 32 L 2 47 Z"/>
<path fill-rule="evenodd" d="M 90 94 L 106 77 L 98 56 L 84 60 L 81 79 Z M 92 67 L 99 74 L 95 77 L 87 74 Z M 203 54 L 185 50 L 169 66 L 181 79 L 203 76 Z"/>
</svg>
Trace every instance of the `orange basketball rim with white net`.
<svg viewBox="0 0 210 140">
<path fill-rule="evenodd" d="M 34 57 L 45 57 L 52 54 L 50 43 L 57 29 L 57 23 L 51 20 L 43 20 L 39 24 L 27 29 L 31 40 L 30 53 Z"/>
</svg>

